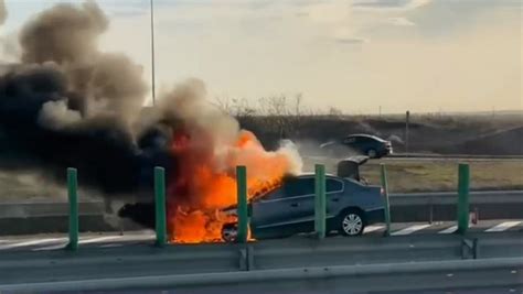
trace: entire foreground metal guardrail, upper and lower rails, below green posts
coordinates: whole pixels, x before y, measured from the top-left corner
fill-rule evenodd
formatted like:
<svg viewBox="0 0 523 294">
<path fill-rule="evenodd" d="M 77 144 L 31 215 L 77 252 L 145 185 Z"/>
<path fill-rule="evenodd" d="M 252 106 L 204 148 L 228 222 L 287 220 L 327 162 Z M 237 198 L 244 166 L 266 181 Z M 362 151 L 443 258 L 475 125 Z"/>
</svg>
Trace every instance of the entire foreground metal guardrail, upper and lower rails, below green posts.
<svg viewBox="0 0 523 294">
<path fill-rule="evenodd" d="M 329 242 L 287 239 L 246 247 L 106 249 L 105 254 L 83 250 L 74 259 L 62 251 L 45 258 L 33 254 L 33 259 L 29 253 L 11 254 L 0 263 L 0 291 L 157 288 L 216 293 L 234 286 L 238 293 L 307 293 L 313 286 L 320 290 L 314 293 L 337 293 L 333 290 L 523 285 L 521 233 L 469 237 L 478 240 L 480 259 L 461 255 L 467 239 L 459 236 L 334 238 Z M 249 252 L 242 253 L 245 250 Z M 245 266 L 245 262 L 253 266 Z"/>
</svg>

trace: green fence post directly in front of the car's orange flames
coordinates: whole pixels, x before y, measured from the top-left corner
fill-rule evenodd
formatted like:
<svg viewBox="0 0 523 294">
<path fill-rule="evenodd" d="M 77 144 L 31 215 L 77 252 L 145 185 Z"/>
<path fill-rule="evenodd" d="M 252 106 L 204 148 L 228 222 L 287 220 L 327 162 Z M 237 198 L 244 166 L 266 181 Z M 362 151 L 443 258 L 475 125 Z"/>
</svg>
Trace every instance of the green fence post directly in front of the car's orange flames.
<svg viewBox="0 0 523 294">
<path fill-rule="evenodd" d="M 236 188 L 237 188 L 237 214 L 238 214 L 238 236 L 237 242 L 247 242 L 248 235 L 248 208 L 247 208 L 247 168 L 236 166 Z"/>
</svg>

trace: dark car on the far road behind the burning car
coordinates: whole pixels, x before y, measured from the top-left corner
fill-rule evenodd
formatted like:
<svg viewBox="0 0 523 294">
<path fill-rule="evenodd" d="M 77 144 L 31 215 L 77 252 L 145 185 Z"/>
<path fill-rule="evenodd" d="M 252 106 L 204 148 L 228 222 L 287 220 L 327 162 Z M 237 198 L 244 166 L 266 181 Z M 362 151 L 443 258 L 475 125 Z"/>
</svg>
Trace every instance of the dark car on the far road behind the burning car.
<svg viewBox="0 0 523 294">
<path fill-rule="evenodd" d="M 393 152 L 389 141 L 371 134 L 351 134 L 342 140 L 321 144 L 320 148 L 331 155 L 346 156 L 353 152 L 371 159 L 380 159 Z"/>
</svg>

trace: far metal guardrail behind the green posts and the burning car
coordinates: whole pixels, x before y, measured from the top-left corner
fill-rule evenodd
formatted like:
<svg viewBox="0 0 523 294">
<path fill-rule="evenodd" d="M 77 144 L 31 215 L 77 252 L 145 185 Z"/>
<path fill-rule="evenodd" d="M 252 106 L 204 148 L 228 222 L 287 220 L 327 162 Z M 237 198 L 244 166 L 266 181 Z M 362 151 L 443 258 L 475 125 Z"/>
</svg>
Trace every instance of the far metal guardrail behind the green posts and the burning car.
<svg viewBox="0 0 523 294">
<path fill-rule="evenodd" d="M 458 193 L 409 193 L 389 195 L 394 222 L 456 220 Z M 523 190 L 471 192 L 470 207 L 480 219 L 523 219 Z M 139 229 L 130 222 L 107 222 L 103 202 L 79 203 L 82 231 Z M 67 203 L 0 204 L 0 235 L 65 232 Z"/>
</svg>

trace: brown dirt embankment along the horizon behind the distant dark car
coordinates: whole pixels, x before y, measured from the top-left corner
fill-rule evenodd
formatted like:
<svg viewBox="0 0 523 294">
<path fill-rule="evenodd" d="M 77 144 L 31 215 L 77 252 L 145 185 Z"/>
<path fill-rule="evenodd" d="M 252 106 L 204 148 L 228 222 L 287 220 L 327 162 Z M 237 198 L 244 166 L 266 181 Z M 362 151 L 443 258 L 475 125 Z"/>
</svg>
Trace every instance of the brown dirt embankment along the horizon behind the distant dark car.
<svg viewBox="0 0 523 294">
<path fill-rule="evenodd" d="M 370 133 L 393 142 L 405 151 L 405 118 L 298 116 L 241 117 L 269 149 L 280 139 L 320 144 L 351 133 Z M 523 155 L 521 116 L 413 116 L 409 123 L 409 152 L 439 154 Z"/>
</svg>

